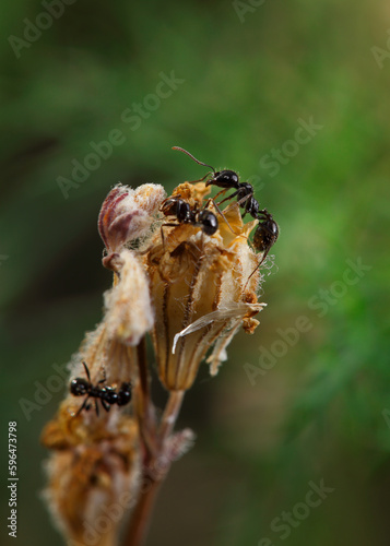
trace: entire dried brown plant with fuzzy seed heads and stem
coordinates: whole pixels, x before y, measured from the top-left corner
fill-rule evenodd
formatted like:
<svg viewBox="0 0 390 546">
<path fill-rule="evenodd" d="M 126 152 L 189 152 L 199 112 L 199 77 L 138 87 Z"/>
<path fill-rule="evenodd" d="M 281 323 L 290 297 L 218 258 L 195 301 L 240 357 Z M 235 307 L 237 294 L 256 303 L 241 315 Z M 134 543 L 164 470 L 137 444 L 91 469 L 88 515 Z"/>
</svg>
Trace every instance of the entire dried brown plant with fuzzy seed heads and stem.
<svg viewBox="0 0 390 546">
<path fill-rule="evenodd" d="M 191 210 L 213 210 L 209 191 L 203 182 L 186 182 L 173 198 Z M 127 520 L 122 544 L 142 543 L 158 486 L 193 443 L 191 430 L 174 432 L 185 392 L 209 351 L 216 375 L 235 333 L 241 327 L 252 333 L 264 305 L 257 298 L 259 270 L 251 275 L 261 257 L 248 244 L 257 221 L 244 224 L 235 203 L 217 214 L 212 236 L 191 223 L 161 229 L 165 198 L 157 185 L 118 185 L 101 210 L 103 264 L 114 285 L 104 295 L 103 321 L 72 358 L 70 379 L 85 377 L 85 363 L 91 384 L 118 392 L 131 383 L 133 397 L 104 411 L 92 396 L 80 411 L 83 399 L 69 392 L 43 431 L 51 450 L 45 495 L 69 546 L 115 546 Z M 146 334 L 168 392 L 161 417 L 151 400 Z"/>
</svg>

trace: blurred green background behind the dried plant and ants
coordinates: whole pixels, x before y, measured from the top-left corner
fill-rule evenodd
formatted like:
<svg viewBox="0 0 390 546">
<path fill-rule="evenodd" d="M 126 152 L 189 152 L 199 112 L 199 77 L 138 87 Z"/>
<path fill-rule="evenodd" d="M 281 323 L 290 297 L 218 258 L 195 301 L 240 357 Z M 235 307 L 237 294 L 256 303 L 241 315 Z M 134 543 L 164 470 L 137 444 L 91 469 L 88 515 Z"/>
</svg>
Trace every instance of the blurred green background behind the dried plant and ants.
<svg viewBox="0 0 390 546">
<path fill-rule="evenodd" d="M 5 477 L 16 420 L 16 543 L 62 544 L 38 497 L 38 437 L 63 389 L 29 419 L 20 400 L 101 319 L 101 203 L 118 181 L 169 191 L 202 176 L 180 145 L 249 178 L 281 235 L 261 327 L 235 339 L 215 379 L 203 366 L 186 397 L 179 426 L 198 441 L 173 466 L 147 545 L 388 545 L 388 2 L 76 0 L 50 25 L 42 13 L 17 0 L 0 22 L 0 460 Z M 26 47 L 24 20 L 37 17 L 49 27 Z M 157 105 L 149 95 L 167 94 L 172 71 L 184 82 Z M 143 118 L 125 122 L 134 103 Z M 316 134 L 288 143 L 310 118 Z M 122 144 L 66 195 L 58 177 L 113 130 Z M 286 153 L 270 168 L 272 149 Z M 347 284 L 358 258 L 366 270 Z M 298 317 L 310 328 L 294 340 Z M 305 515 L 298 503 L 321 479 L 334 491 Z M 5 505 L 4 479 L 0 495 Z M 271 527 L 284 510 L 305 515 L 286 538 Z"/>
</svg>

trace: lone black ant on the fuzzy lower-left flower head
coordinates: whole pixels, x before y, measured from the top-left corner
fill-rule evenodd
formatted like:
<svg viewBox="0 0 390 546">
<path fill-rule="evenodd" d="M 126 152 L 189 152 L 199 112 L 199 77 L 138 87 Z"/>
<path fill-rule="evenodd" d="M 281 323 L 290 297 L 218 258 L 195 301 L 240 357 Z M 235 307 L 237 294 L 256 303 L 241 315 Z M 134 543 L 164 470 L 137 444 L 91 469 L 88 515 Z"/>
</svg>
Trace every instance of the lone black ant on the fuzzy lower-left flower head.
<svg viewBox="0 0 390 546">
<path fill-rule="evenodd" d="M 98 415 L 98 405 L 97 405 L 98 399 L 101 400 L 102 405 L 106 412 L 109 412 L 110 406 L 114 404 L 118 404 L 118 406 L 125 406 L 130 402 L 131 400 L 130 383 L 123 382 L 118 391 L 113 387 L 101 387 L 101 384 L 106 381 L 106 373 L 104 372 L 104 378 L 97 381 L 97 384 L 94 387 L 92 384 L 90 370 L 86 364 L 83 363 L 83 366 L 87 379 L 76 377 L 75 379 L 72 379 L 69 387 L 70 392 L 74 396 L 86 395 L 82 406 L 79 408 L 74 417 L 76 417 L 84 408 L 86 411 L 91 410 L 91 404 L 87 404 L 88 399 L 95 399 L 96 415 Z"/>
</svg>

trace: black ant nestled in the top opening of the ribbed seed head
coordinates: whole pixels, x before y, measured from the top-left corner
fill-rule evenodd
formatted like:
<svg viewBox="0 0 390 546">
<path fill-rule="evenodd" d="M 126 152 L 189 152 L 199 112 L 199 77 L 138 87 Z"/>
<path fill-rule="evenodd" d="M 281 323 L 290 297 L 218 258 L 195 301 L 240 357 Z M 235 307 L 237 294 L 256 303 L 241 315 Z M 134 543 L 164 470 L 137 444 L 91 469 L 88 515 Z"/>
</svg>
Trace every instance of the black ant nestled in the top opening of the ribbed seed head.
<svg viewBox="0 0 390 546">
<path fill-rule="evenodd" d="M 218 228 L 218 221 L 213 212 L 208 209 L 191 210 L 189 203 L 180 197 L 166 199 L 159 210 L 165 216 L 176 216 L 178 222 L 178 224 L 163 224 L 162 229 L 163 227 L 176 227 L 180 224 L 191 224 L 201 227 L 205 235 L 214 235 Z M 164 239 L 163 232 L 162 238 Z"/>
</svg>

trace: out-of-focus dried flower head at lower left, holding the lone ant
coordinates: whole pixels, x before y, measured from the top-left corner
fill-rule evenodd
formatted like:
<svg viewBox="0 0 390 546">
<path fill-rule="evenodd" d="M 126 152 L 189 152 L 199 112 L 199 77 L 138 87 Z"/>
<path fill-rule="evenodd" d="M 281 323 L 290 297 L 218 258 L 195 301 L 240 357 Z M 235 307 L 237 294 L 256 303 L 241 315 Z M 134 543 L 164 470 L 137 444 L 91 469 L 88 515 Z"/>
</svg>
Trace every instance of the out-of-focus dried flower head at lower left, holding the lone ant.
<svg viewBox="0 0 390 546">
<path fill-rule="evenodd" d="M 93 385 L 106 377 L 102 389 L 106 384 L 115 389 L 134 375 L 131 347 L 110 340 L 105 322 L 87 334 L 73 359 L 71 378 L 85 378 L 81 360 L 88 363 Z M 98 399 L 91 399 L 87 411 L 87 406 L 83 408 L 85 396 L 80 399 L 69 392 L 43 431 L 42 442 L 52 451 L 46 464 L 45 498 L 69 544 L 92 544 L 94 536 L 93 544 L 108 546 L 116 543 L 121 518 L 109 518 L 107 513 L 120 511 L 122 515 L 138 497 L 138 423 L 123 414 L 127 407 L 118 405 L 110 406 L 109 412 L 101 405 L 97 414 Z M 108 524 L 101 525 L 102 521 Z"/>
</svg>

